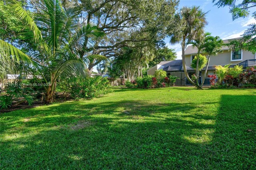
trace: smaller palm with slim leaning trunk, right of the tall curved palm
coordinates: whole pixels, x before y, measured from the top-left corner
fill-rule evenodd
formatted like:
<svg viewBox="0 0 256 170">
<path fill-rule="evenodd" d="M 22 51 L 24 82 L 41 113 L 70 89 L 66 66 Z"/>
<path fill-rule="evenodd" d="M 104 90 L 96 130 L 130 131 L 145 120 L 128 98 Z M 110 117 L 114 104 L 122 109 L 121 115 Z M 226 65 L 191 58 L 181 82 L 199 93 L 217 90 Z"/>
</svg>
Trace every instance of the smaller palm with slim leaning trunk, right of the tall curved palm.
<svg viewBox="0 0 256 170">
<path fill-rule="evenodd" d="M 208 60 L 206 63 L 206 69 L 204 71 L 204 76 L 202 79 L 201 87 L 204 85 L 204 80 L 206 77 L 206 73 L 208 71 L 208 66 L 210 63 L 210 57 L 211 55 L 218 55 L 218 53 L 222 52 L 222 46 L 224 45 L 223 41 L 220 39 L 220 37 L 216 36 L 207 36 L 204 42 L 204 49 L 203 52 L 208 54 Z"/>
</svg>

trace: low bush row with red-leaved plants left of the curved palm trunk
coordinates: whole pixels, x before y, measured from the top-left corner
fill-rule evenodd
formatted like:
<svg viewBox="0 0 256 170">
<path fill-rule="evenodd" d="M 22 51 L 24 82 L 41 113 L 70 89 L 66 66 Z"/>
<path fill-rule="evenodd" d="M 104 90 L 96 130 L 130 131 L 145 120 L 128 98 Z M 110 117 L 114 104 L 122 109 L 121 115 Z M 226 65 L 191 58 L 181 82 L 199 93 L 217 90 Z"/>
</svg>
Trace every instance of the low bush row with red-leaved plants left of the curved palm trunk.
<svg viewBox="0 0 256 170">
<path fill-rule="evenodd" d="M 160 87 L 169 87 L 170 85 L 174 86 L 178 77 L 169 76 L 169 77 L 154 77 L 152 75 L 147 75 L 144 77 L 137 77 L 136 80 L 126 81 L 125 86 L 128 88 L 142 88 L 142 89 L 151 89 L 151 88 L 160 88 Z"/>
</svg>

